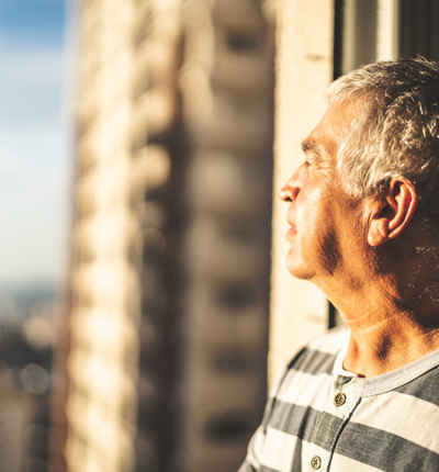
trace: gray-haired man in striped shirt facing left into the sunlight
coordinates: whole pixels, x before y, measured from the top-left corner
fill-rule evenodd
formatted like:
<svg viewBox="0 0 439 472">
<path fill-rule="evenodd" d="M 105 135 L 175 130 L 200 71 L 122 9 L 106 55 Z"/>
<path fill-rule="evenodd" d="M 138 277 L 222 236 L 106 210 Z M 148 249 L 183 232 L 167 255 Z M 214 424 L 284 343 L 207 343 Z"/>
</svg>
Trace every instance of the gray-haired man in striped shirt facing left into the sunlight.
<svg viewBox="0 0 439 472">
<path fill-rule="evenodd" d="M 328 97 L 280 198 L 290 272 L 347 328 L 291 361 L 239 471 L 439 471 L 439 65 L 371 64 Z"/>
</svg>

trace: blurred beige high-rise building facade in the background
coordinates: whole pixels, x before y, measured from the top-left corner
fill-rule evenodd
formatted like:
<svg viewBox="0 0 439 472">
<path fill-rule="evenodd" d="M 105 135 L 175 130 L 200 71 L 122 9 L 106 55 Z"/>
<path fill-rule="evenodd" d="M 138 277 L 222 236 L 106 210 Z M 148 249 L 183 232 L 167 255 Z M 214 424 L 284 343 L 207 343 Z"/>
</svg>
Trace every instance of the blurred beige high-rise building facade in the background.
<svg viewBox="0 0 439 472">
<path fill-rule="evenodd" d="M 232 472 L 267 394 L 272 18 L 85 0 L 78 23 L 53 468 Z"/>
</svg>

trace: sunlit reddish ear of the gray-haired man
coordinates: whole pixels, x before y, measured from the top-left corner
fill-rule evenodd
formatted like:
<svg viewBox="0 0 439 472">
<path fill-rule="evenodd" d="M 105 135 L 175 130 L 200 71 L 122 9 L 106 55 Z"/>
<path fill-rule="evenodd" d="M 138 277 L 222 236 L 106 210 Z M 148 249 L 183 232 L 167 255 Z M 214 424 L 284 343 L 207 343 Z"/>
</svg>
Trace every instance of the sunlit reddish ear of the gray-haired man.
<svg viewBox="0 0 439 472">
<path fill-rule="evenodd" d="M 375 247 L 395 238 L 413 218 L 418 196 L 408 180 L 392 179 L 386 192 L 369 203 L 368 243 Z"/>
</svg>

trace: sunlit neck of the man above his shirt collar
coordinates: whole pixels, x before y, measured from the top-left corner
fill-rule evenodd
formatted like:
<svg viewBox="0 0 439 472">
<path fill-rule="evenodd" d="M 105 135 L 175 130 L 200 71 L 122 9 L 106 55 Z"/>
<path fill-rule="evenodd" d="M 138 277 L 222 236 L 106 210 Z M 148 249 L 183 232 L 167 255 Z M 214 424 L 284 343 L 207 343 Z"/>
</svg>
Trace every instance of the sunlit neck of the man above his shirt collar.
<svg viewBox="0 0 439 472">
<path fill-rule="evenodd" d="M 344 367 L 362 377 L 390 372 L 439 349 L 439 300 L 425 289 L 434 274 L 413 268 L 394 272 L 409 278 L 373 272 L 333 277 L 320 286 L 351 330 Z"/>
</svg>

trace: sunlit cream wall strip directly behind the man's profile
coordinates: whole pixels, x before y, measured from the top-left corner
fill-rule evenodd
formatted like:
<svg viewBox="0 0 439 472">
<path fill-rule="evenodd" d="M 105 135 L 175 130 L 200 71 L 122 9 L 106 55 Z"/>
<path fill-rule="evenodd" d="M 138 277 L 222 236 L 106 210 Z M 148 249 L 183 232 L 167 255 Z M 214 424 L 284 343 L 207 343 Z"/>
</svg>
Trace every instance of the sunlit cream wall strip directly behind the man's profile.
<svg viewBox="0 0 439 472">
<path fill-rule="evenodd" d="M 301 142 L 326 109 L 333 80 L 334 1 L 280 0 L 274 139 L 274 204 L 269 382 L 291 356 L 327 326 L 327 301 L 285 267 L 286 204 L 277 192 L 303 161 Z"/>
</svg>

